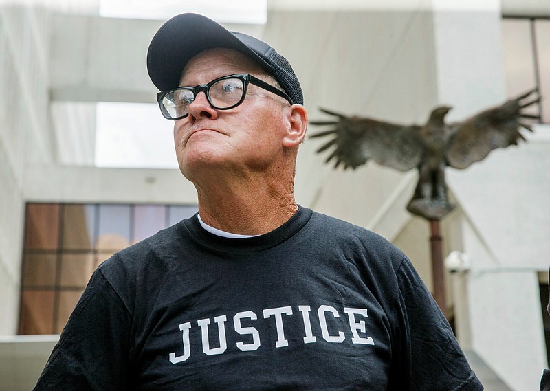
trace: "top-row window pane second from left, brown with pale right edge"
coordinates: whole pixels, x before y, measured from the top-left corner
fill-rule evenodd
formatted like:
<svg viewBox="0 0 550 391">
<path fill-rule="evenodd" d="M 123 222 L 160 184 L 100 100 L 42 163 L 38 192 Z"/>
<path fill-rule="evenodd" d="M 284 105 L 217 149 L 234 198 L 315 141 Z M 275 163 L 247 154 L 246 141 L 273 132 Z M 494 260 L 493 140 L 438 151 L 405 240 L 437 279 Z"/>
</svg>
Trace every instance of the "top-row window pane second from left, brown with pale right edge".
<svg viewBox="0 0 550 391">
<path fill-rule="evenodd" d="M 92 249 L 95 205 L 65 205 L 63 208 L 63 247 Z"/>
</svg>

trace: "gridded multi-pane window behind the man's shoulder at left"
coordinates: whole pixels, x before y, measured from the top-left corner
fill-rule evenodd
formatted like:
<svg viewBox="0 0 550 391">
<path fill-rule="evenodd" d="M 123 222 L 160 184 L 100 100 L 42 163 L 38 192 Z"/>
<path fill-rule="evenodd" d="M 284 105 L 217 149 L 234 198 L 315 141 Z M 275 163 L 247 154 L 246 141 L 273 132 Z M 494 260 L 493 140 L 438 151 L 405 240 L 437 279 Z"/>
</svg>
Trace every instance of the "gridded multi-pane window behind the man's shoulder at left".
<svg viewBox="0 0 550 391">
<path fill-rule="evenodd" d="M 28 203 L 19 334 L 61 333 L 100 262 L 195 212 L 195 205 Z"/>
</svg>

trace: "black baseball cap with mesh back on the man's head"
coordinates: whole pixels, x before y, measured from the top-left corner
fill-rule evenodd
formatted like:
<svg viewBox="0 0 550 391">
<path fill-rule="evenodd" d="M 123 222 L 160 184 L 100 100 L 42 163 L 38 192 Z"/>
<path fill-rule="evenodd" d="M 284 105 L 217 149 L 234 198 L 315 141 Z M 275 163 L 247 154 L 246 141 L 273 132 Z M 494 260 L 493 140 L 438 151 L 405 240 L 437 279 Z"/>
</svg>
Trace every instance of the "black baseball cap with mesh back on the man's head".
<svg viewBox="0 0 550 391">
<path fill-rule="evenodd" d="M 300 82 L 286 58 L 267 43 L 225 27 L 199 14 L 179 14 L 168 20 L 153 36 L 147 52 L 147 70 L 153 84 L 166 91 L 178 87 L 181 71 L 203 50 L 226 47 L 259 63 L 290 96 L 303 104 Z"/>
</svg>

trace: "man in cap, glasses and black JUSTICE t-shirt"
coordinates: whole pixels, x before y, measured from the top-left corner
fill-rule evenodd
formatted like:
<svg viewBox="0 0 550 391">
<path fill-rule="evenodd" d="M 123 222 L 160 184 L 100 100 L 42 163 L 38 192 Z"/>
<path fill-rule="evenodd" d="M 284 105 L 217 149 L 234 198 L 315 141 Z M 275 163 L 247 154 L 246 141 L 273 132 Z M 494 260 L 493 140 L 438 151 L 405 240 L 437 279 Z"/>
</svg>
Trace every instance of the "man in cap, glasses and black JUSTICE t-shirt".
<svg viewBox="0 0 550 391">
<path fill-rule="evenodd" d="M 404 254 L 296 205 L 285 58 L 182 14 L 148 71 L 199 214 L 100 265 L 36 390 L 483 389 Z"/>
</svg>

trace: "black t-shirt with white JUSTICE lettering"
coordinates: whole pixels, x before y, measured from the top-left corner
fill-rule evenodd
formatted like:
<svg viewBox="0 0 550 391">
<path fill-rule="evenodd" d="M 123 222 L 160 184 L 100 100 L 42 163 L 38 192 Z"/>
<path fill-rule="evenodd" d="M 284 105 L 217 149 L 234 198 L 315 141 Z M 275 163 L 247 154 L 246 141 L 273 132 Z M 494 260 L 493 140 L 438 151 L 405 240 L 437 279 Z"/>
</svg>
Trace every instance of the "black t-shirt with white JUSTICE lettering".
<svg viewBox="0 0 550 391">
<path fill-rule="evenodd" d="M 197 216 L 102 263 L 35 390 L 482 390 L 410 261 L 307 208 L 230 239 Z"/>
</svg>

